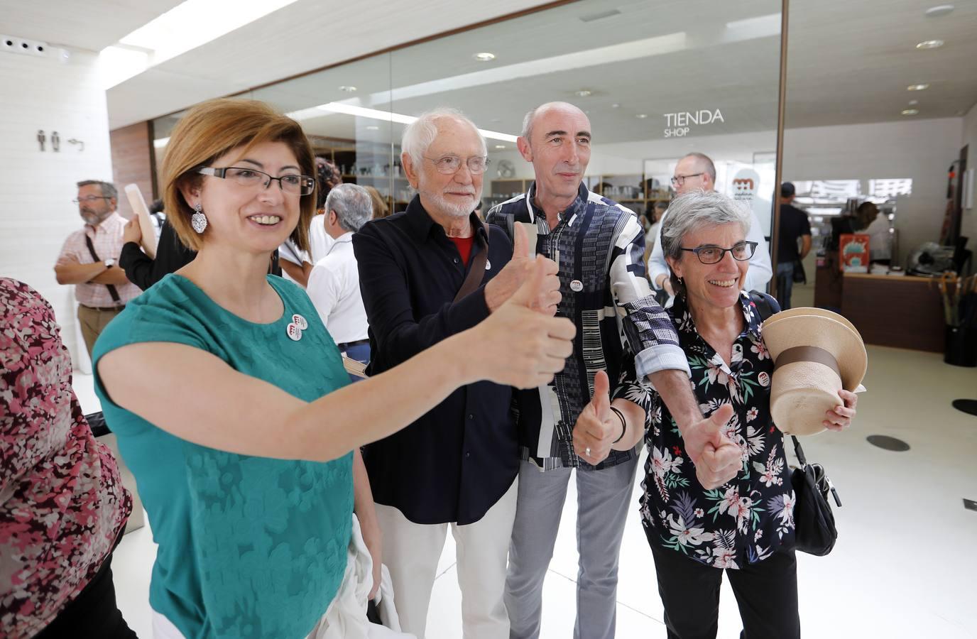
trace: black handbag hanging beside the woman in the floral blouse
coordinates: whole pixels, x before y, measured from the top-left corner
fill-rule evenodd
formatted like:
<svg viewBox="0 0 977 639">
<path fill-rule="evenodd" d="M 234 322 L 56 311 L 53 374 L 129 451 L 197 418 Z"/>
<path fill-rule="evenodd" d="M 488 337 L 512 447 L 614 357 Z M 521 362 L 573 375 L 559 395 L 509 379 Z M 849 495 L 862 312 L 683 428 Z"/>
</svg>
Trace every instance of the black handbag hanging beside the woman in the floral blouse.
<svg viewBox="0 0 977 639">
<path fill-rule="evenodd" d="M 808 463 L 804 456 L 804 449 L 800 447 L 797 438 L 793 440 L 794 452 L 797 453 L 799 468 L 790 474 L 790 484 L 794 490 L 794 548 L 810 555 L 824 557 L 834 547 L 838 539 L 838 530 L 834 527 L 834 513 L 828 503 L 828 492 L 834 498 L 834 503 L 841 507 L 841 499 L 837 490 L 831 485 L 831 480 L 825 473 L 825 467 L 818 463 Z"/>
</svg>

